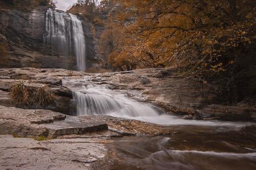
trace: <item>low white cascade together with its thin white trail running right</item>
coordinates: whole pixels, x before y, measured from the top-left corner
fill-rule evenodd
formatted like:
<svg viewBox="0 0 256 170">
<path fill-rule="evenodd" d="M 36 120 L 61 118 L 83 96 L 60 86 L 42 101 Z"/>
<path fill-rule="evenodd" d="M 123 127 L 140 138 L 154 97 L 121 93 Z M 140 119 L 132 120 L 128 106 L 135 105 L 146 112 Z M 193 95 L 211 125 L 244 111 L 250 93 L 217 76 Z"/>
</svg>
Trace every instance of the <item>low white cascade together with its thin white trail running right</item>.
<svg viewBox="0 0 256 170">
<path fill-rule="evenodd" d="M 236 126 L 240 128 L 249 123 L 184 120 L 170 114 L 164 114 L 158 108 L 130 99 L 125 94 L 96 84 L 65 81 L 63 86 L 73 90 L 77 115 L 107 114 L 159 125 L 201 125 L 201 126 Z"/>
</svg>

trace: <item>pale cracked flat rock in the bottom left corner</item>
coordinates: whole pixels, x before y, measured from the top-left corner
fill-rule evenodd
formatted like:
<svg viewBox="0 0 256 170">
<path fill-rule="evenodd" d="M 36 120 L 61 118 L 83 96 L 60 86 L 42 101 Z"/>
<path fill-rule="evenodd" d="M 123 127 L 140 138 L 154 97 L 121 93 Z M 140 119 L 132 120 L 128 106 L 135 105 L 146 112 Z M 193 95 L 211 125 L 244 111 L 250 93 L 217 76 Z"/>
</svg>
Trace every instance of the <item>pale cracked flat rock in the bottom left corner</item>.
<svg viewBox="0 0 256 170">
<path fill-rule="evenodd" d="M 91 169 L 104 158 L 99 139 L 52 139 L 35 141 L 0 135 L 0 169 Z"/>
</svg>

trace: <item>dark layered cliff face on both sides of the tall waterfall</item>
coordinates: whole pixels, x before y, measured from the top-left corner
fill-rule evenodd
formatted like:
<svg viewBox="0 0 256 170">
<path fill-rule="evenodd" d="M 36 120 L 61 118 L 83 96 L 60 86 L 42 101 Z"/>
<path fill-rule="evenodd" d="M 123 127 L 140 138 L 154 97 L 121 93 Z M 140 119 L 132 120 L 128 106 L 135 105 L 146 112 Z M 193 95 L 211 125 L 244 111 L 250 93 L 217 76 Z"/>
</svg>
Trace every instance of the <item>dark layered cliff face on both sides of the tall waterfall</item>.
<svg viewBox="0 0 256 170">
<path fill-rule="evenodd" d="M 39 6 L 31 10 L 0 8 L 0 42 L 7 46 L 8 57 L 0 61 L 0 67 L 63 68 L 76 70 L 76 58 L 51 50 L 44 44 L 46 12 Z M 63 11 L 58 11 L 63 12 Z M 86 44 L 88 67 L 101 60 L 96 42 L 99 37 L 92 33 L 92 24 L 82 22 Z"/>
</svg>

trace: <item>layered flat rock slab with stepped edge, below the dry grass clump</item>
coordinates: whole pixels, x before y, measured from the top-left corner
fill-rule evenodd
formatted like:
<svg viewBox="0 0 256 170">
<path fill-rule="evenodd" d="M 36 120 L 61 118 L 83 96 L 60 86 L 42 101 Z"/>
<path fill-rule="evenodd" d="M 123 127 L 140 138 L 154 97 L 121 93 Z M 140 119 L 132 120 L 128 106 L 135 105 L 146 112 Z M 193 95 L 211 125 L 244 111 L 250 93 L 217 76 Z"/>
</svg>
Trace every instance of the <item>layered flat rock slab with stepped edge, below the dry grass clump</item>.
<svg viewBox="0 0 256 170">
<path fill-rule="evenodd" d="M 3 106 L 0 106 L 0 127 L 0 134 L 19 137 L 57 137 L 108 130 L 108 125 L 102 121 L 88 121 L 48 110 Z"/>
</svg>

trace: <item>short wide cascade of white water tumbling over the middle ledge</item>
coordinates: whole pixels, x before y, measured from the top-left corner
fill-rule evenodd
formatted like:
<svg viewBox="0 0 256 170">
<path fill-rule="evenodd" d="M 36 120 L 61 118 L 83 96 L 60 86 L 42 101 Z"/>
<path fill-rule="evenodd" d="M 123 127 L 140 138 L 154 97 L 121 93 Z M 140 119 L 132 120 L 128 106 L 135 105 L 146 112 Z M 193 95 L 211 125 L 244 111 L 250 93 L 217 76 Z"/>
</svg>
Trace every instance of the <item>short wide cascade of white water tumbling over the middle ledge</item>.
<svg viewBox="0 0 256 170">
<path fill-rule="evenodd" d="M 78 83 L 79 84 L 79 83 Z M 63 80 L 63 86 L 73 90 L 77 115 L 109 114 L 117 117 L 159 116 L 159 110 L 151 105 L 129 99 L 125 94 L 115 93 L 107 87 Z"/>
</svg>

